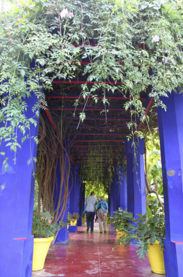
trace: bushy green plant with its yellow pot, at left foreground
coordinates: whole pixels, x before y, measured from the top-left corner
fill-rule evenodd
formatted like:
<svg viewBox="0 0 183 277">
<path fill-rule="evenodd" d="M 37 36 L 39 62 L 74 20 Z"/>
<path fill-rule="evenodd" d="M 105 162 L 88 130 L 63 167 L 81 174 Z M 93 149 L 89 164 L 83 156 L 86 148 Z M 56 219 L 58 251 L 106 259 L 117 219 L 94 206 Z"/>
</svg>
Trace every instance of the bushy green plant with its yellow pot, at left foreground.
<svg viewBox="0 0 183 277">
<path fill-rule="evenodd" d="M 38 213 L 37 210 L 33 211 L 33 271 L 43 269 L 51 242 L 53 242 L 55 234 L 60 230 L 60 227 L 64 226 L 66 226 L 65 222 L 53 223 L 53 216 L 49 211 L 45 213 Z"/>
</svg>

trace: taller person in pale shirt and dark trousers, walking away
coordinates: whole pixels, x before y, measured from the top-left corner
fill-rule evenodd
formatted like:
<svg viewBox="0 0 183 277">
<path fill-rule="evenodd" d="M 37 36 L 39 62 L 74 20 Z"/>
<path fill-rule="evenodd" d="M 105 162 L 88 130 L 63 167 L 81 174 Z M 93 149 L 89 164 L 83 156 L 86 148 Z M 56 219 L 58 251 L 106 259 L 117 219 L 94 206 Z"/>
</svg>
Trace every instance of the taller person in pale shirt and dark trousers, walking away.
<svg viewBox="0 0 183 277">
<path fill-rule="evenodd" d="M 85 211 L 87 214 L 87 232 L 89 231 L 89 222 L 90 222 L 91 232 L 94 231 L 94 217 L 95 217 L 96 204 L 97 204 L 97 199 L 94 195 L 95 193 L 94 191 L 92 191 L 90 196 L 88 196 L 85 199 L 85 205 L 86 205 Z"/>
</svg>

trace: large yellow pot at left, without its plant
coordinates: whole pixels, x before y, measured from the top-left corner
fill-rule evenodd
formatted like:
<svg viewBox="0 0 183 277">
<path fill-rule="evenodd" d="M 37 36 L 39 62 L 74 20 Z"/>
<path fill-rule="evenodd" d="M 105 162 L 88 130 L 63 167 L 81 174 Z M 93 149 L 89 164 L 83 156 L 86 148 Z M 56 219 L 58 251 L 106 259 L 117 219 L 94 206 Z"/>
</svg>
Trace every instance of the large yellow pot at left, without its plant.
<svg viewBox="0 0 183 277">
<path fill-rule="evenodd" d="M 49 251 L 50 244 L 53 240 L 54 240 L 53 237 L 34 239 L 33 271 L 43 269 L 46 255 Z"/>
</svg>

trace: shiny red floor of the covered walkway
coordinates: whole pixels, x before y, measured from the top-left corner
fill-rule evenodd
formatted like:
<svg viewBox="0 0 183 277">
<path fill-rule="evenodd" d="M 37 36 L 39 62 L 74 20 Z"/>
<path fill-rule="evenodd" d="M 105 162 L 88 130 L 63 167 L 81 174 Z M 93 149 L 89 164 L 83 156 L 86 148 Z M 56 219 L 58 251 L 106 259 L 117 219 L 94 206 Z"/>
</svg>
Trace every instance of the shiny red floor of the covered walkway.
<svg viewBox="0 0 183 277">
<path fill-rule="evenodd" d="M 141 261 L 136 256 L 137 248 L 123 246 L 112 251 L 117 238 L 115 231 L 99 233 L 98 224 L 94 233 L 78 227 L 78 233 L 69 233 L 69 241 L 55 244 L 49 249 L 44 269 L 34 271 L 33 277 L 157 277 L 153 274 L 148 258 Z"/>
</svg>

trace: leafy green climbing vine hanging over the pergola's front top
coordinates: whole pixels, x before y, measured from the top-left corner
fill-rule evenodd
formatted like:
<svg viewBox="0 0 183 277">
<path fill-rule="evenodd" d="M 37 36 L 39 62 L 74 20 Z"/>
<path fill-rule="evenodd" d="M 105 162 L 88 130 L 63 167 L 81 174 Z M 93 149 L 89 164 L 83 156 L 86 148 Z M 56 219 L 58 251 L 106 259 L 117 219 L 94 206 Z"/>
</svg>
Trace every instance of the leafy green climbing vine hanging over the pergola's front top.
<svg viewBox="0 0 183 277">
<path fill-rule="evenodd" d="M 42 89 L 52 90 L 56 78 L 72 80 L 82 75 L 88 82 L 94 81 L 91 86 L 87 82 L 82 86 L 81 95 L 85 96 L 85 104 L 88 96 L 93 96 L 95 105 L 98 93 L 103 92 L 106 121 L 108 91 L 123 96 L 130 93 L 125 109 L 129 108 L 131 116 L 142 120 L 146 116 L 140 93 L 148 93 L 156 106 L 166 109 L 160 96 L 168 97 L 171 91 L 177 92 L 175 88 L 182 92 L 180 7 L 182 1 L 167 0 L 37 0 L 22 1 L 19 6 L 15 2 L 12 9 L 2 11 L 0 141 L 17 152 L 21 143 L 30 139 L 30 125 L 36 127 L 35 116 L 39 116 L 40 107 L 46 107 Z M 62 17 L 63 8 L 73 12 L 73 17 Z M 87 46 L 83 47 L 84 44 Z M 92 63 L 81 69 L 80 62 L 85 58 Z M 34 66 L 30 66 L 32 61 Z M 104 82 L 112 79 L 122 84 Z M 26 110 L 32 91 L 37 103 L 32 107 L 34 115 L 28 118 Z M 84 106 L 80 121 L 85 118 Z M 132 135 L 140 135 L 136 122 L 130 120 L 128 127 Z M 22 135 L 21 142 L 17 140 L 18 134 Z"/>
</svg>

